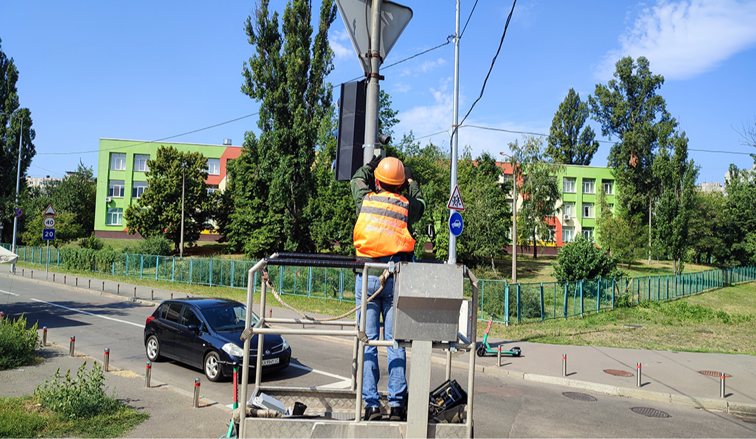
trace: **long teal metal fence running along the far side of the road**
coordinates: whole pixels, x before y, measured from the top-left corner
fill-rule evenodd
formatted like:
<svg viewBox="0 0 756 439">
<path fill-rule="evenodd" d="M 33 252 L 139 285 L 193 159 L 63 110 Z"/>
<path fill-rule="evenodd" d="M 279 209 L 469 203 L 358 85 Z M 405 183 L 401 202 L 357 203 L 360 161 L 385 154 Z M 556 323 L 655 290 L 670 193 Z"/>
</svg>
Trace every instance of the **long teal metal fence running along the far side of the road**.
<svg viewBox="0 0 756 439">
<path fill-rule="evenodd" d="M 9 244 L 2 244 L 10 248 Z M 19 247 L 19 260 L 61 266 L 64 261 L 56 248 Z M 247 272 L 256 262 L 234 259 L 176 258 L 120 253 L 110 267 L 110 275 L 153 278 L 246 289 Z M 270 266 L 271 282 L 283 294 L 354 302 L 355 276 L 351 269 Z M 612 309 L 622 296 L 631 302 L 665 301 L 702 293 L 714 288 L 756 281 L 756 267 L 710 269 L 681 275 L 641 278 L 585 279 L 575 282 L 509 284 L 507 281 L 480 280 L 480 320 L 488 314 L 504 324 L 569 318 Z M 256 285 L 260 284 L 257 276 Z M 472 296 L 465 284 L 465 296 Z"/>
</svg>

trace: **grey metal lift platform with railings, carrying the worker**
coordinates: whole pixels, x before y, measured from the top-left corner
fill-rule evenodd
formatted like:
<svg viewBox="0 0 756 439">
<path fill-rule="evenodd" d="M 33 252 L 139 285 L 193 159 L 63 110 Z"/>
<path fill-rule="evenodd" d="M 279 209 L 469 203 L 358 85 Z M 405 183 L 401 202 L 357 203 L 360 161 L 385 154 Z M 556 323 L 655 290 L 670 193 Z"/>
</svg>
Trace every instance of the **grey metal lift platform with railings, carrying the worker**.
<svg viewBox="0 0 756 439">
<path fill-rule="evenodd" d="M 435 262 L 435 261 L 434 261 Z M 364 337 L 365 310 L 367 309 L 367 282 L 362 283 L 361 318 L 351 321 L 321 321 L 312 318 L 266 318 L 268 285 L 262 281 L 260 290 L 259 321 L 252 322 L 252 307 L 256 273 L 262 275 L 267 266 L 308 266 L 347 269 L 387 270 L 395 278 L 394 284 L 394 339 L 398 341 L 367 340 Z M 472 285 L 472 302 L 463 300 L 463 282 Z M 478 279 L 466 266 L 426 262 L 363 262 L 350 256 L 326 256 L 303 253 L 275 253 L 261 259 L 249 269 L 246 296 L 246 328 L 244 335 L 244 361 L 241 378 L 240 401 L 249 405 L 260 394 L 266 394 L 293 406 L 300 402 L 307 406 L 305 416 L 262 418 L 247 415 L 240 410 L 239 435 L 242 439 L 292 438 L 349 438 L 349 439 L 471 439 L 472 408 L 475 384 L 476 322 L 478 320 Z M 271 293 L 274 293 L 271 291 Z M 464 305 L 463 306 L 463 302 Z M 465 314 L 460 318 L 460 308 Z M 460 322 L 462 324 L 460 324 Z M 274 324 L 276 327 L 268 327 Z M 296 327 L 280 327 L 280 325 Z M 314 328 L 305 328 L 304 325 Z M 460 333 L 460 326 L 463 332 Z M 336 329 L 341 327 L 341 329 Z M 333 328 L 333 329 L 329 329 Z M 348 329 L 344 329 L 348 328 Z M 265 385 L 262 382 L 262 355 L 257 355 L 256 373 L 252 394 L 249 384 L 249 351 L 252 336 L 259 334 L 257 352 L 262 350 L 265 334 L 343 336 L 354 340 L 352 350 L 352 388 L 291 388 Z M 408 382 L 407 422 L 362 420 L 362 377 L 364 346 L 403 346 L 411 350 Z M 462 423 L 429 422 L 429 393 L 432 349 L 446 350 L 446 379 L 451 378 L 451 354 L 469 352 L 466 381 L 466 405 Z M 381 404 L 386 404 L 382 392 Z M 383 407 L 387 412 L 388 407 Z"/>
</svg>

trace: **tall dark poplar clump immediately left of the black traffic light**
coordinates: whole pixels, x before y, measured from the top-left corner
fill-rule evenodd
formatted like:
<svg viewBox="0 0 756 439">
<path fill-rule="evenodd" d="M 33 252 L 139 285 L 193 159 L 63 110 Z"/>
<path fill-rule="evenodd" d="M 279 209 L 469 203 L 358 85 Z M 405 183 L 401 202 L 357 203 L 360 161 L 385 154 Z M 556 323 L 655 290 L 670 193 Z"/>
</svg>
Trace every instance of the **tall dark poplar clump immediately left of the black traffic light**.
<svg viewBox="0 0 756 439">
<path fill-rule="evenodd" d="M 240 157 L 228 167 L 227 199 L 234 207 L 218 223 L 231 247 L 251 257 L 314 250 L 315 146 L 332 97 L 325 77 L 333 69 L 333 1 L 321 3 L 314 39 L 311 2 L 288 2 L 281 26 L 268 5 L 262 0 L 246 20 L 255 52 L 244 64 L 242 84 L 243 94 L 259 101 L 260 135 L 248 131 Z"/>
</svg>

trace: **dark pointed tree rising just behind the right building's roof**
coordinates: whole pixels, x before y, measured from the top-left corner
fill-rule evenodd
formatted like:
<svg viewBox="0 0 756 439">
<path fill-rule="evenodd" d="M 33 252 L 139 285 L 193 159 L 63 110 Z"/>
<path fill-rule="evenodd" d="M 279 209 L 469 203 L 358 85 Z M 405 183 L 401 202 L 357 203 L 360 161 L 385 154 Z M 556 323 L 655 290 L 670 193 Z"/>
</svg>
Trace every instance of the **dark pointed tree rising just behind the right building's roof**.
<svg viewBox="0 0 756 439">
<path fill-rule="evenodd" d="M 588 104 L 580 100 L 580 94 L 570 88 L 559 109 L 554 113 L 549 130 L 549 146 L 546 154 L 561 164 L 590 164 L 593 154 L 599 149 L 593 128 L 585 125 Z"/>
</svg>

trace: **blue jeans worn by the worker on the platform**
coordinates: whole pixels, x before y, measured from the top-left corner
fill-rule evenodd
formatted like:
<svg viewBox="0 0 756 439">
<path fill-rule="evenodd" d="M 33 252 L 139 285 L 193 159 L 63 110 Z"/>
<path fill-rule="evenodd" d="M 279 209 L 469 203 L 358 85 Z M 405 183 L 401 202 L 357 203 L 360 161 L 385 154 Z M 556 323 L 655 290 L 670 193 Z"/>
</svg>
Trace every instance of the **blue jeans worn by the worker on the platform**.
<svg viewBox="0 0 756 439">
<path fill-rule="evenodd" d="M 378 276 L 367 277 L 367 297 L 380 287 Z M 362 275 L 357 275 L 355 282 L 357 305 L 362 300 Z M 394 332 L 394 278 L 386 279 L 383 291 L 370 302 L 367 302 L 365 316 L 365 335 L 367 339 L 377 340 L 380 334 L 380 316 L 383 315 L 383 339 L 393 340 Z M 360 310 L 357 311 L 357 321 L 360 321 Z M 407 357 L 404 348 L 388 348 L 389 351 L 389 406 L 404 407 L 407 404 L 407 377 L 404 370 L 407 367 Z M 378 396 L 378 381 L 380 368 L 378 367 L 378 348 L 365 346 L 364 373 L 362 380 L 362 399 L 365 407 L 380 407 Z"/>
</svg>

